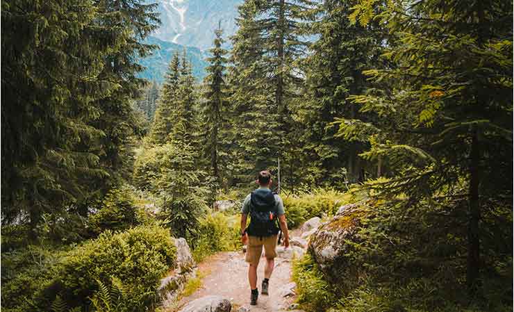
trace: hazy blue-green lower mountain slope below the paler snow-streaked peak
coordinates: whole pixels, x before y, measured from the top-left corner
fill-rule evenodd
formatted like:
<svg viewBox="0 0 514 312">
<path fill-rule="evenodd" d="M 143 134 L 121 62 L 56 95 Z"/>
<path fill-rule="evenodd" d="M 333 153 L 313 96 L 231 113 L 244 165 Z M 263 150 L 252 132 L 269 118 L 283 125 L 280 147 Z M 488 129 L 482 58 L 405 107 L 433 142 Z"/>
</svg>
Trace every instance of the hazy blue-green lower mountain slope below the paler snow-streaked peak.
<svg viewBox="0 0 514 312">
<path fill-rule="evenodd" d="M 174 52 L 179 51 L 179 53 L 182 54 L 183 49 L 185 48 L 185 54 L 187 55 L 188 60 L 192 63 L 194 77 L 199 82 L 204 79 L 206 74 L 205 67 L 207 66 L 206 58 L 208 56 L 206 51 L 201 51 L 197 47 L 184 47 L 181 44 L 163 41 L 153 36 L 149 36 L 145 42 L 156 44 L 160 49 L 156 49 L 151 56 L 139 60 L 138 63 L 147 67 L 144 72 L 141 72 L 138 75 L 141 78 L 146 78 L 149 81 L 156 81 L 159 84 L 163 83 L 164 75 Z"/>
</svg>

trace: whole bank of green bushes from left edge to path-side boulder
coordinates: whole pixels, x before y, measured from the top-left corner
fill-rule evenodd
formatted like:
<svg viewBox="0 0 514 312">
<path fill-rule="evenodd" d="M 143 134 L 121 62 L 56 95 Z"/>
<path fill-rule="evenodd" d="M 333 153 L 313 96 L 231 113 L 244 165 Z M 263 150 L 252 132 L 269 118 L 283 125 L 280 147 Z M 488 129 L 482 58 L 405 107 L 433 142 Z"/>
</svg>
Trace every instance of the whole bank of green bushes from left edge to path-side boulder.
<svg viewBox="0 0 514 312">
<path fill-rule="evenodd" d="M 176 249 L 166 229 L 135 227 L 105 231 L 71 250 L 29 246 L 2 254 L 2 310 L 51 311 L 53 306 L 90 311 L 106 289 L 117 291 L 117 312 L 148 311 L 156 288 L 172 268 Z"/>
</svg>

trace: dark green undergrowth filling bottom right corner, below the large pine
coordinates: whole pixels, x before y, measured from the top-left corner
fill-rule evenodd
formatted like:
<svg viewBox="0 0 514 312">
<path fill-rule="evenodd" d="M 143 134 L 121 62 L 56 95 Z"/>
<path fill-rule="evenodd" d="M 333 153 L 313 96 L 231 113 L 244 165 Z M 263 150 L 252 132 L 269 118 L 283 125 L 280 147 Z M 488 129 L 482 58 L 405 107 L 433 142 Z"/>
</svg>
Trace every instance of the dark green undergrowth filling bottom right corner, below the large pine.
<svg viewBox="0 0 514 312">
<path fill-rule="evenodd" d="M 345 256 L 336 260 L 342 268 L 337 276 L 324 276 L 310 254 L 295 265 L 299 302 L 307 311 L 512 309 L 511 243 L 487 244 L 483 261 L 488 269 L 479 295 L 470 297 L 464 287 L 467 263 L 461 255 L 467 245 L 459 217 L 465 215 L 465 206 L 456 208 L 448 197 L 419 203 L 405 197 L 373 199 L 361 205 L 356 215 L 361 226 L 342 247 Z M 504 217 L 494 217 L 499 211 Z M 509 236 L 509 206 L 497 206 L 483 217 L 488 240 Z"/>
</svg>

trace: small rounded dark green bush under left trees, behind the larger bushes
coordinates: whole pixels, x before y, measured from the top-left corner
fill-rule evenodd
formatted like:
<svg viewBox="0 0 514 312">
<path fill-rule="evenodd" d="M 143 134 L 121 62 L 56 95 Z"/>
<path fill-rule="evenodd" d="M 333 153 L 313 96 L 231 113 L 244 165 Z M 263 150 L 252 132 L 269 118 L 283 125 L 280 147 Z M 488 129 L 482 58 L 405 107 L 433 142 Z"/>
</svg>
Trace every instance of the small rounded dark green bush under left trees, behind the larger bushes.
<svg viewBox="0 0 514 312">
<path fill-rule="evenodd" d="M 99 211 L 89 217 L 90 231 L 95 235 L 106 230 L 123 231 L 139 223 L 135 195 L 126 186 L 110 190 Z"/>
</svg>

